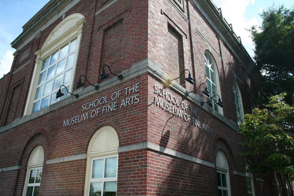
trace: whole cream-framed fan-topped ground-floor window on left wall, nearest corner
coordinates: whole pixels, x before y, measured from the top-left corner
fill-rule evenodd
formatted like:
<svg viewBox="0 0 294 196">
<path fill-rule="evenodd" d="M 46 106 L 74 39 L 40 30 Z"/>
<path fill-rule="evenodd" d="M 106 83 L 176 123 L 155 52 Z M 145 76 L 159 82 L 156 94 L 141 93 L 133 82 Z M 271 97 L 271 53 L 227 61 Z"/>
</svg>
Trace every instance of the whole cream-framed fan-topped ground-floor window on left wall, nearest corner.
<svg viewBox="0 0 294 196">
<path fill-rule="evenodd" d="M 116 195 L 118 136 L 110 126 L 97 130 L 88 147 L 84 195 Z"/>
</svg>

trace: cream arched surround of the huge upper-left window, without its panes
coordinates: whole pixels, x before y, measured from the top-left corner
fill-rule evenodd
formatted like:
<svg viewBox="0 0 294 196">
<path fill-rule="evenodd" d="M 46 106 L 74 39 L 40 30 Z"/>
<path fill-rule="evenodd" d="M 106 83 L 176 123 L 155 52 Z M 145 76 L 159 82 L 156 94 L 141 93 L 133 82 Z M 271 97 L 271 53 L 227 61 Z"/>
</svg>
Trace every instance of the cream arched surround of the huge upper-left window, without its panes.
<svg viewBox="0 0 294 196">
<path fill-rule="evenodd" d="M 80 43 L 81 43 L 81 33 L 83 29 L 83 24 L 86 22 L 86 19 L 82 14 L 71 14 L 63 19 L 54 29 L 51 31 L 49 36 L 47 37 L 44 45 L 41 50 L 38 50 L 35 54 L 36 64 L 34 68 L 34 73 L 31 81 L 31 86 L 29 89 L 29 96 L 26 101 L 26 108 L 24 110 L 24 115 L 30 115 L 33 107 L 34 97 L 36 93 L 36 87 L 39 79 L 39 74 L 41 71 L 42 62 L 51 54 L 56 52 L 56 50 L 60 49 L 70 41 L 77 38 L 76 43 L 76 53 L 74 57 L 74 65 L 71 72 L 71 82 L 69 86 L 69 92 L 73 88 L 74 84 L 74 76 L 76 73 L 76 63 L 77 57 L 79 53 Z"/>
</svg>

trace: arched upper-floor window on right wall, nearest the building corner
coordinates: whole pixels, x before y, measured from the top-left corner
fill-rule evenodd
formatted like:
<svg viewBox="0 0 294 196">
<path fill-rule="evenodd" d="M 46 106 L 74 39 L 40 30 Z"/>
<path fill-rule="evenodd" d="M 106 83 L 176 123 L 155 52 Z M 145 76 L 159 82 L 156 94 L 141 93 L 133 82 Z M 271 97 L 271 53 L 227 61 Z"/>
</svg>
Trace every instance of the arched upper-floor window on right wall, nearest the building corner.
<svg viewBox="0 0 294 196">
<path fill-rule="evenodd" d="M 220 86 L 218 79 L 218 69 L 216 67 L 216 63 L 213 60 L 213 57 L 209 53 L 204 53 L 204 64 L 206 71 L 206 82 L 208 91 L 211 94 L 211 97 L 215 94 L 220 96 Z M 221 96 L 220 96 L 221 98 Z M 209 106 L 211 106 L 214 110 L 218 111 L 218 113 L 223 113 L 223 109 L 216 105 L 218 102 L 218 96 L 215 96 L 212 101 L 209 102 Z"/>
</svg>

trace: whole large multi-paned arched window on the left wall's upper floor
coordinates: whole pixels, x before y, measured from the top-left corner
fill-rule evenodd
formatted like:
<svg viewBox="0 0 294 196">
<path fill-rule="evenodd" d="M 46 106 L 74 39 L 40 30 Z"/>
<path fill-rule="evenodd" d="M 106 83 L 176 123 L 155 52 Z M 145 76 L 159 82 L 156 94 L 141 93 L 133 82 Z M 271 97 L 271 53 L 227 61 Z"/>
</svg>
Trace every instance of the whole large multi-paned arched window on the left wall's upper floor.
<svg viewBox="0 0 294 196">
<path fill-rule="evenodd" d="M 37 58 L 25 115 L 66 98 L 63 96 L 56 99 L 56 92 L 61 85 L 65 85 L 71 92 L 85 22 L 82 14 L 66 17 L 51 31 L 41 50 L 35 53 Z M 68 94 L 64 87 L 61 90 L 64 95 Z"/>
</svg>

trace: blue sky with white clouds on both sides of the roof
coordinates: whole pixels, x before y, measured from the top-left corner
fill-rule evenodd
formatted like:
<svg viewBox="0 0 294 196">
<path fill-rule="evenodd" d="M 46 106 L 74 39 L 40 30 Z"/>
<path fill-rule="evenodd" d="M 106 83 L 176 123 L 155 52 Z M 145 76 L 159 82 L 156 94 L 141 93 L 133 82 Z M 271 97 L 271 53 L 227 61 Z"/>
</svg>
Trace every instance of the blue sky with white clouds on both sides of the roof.
<svg viewBox="0 0 294 196">
<path fill-rule="evenodd" d="M 290 8 L 293 0 L 212 0 L 217 8 L 221 7 L 223 17 L 230 24 L 233 31 L 241 37 L 243 46 L 249 55 L 253 56 L 254 45 L 246 31 L 250 26 L 262 24 L 259 14 L 263 9 L 275 4 Z M 22 32 L 26 24 L 49 0 L 0 0 L 0 78 L 10 71 L 13 53 L 13 42 Z"/>
</svg>

